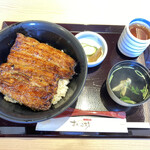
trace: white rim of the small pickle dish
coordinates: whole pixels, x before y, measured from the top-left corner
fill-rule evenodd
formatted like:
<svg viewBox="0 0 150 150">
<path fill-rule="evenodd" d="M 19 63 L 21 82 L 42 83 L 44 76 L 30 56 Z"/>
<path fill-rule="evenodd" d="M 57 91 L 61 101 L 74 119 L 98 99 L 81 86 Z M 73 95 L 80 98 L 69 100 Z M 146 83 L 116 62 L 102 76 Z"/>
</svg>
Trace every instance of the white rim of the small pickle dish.
<svg viewBox="0 0 150 150">
<path fill-rule="evenodd" d="M 102 45 L 101 47 L 103 47 L 103 55 L 100 56 L 95 62 L 87 62 L 88 63 L 88 67 L 95 67 L 97 65 L 99 65 L 107 56 L 107 53 L 108 53 L 108 45 L 107 45 L 107 42 L 106 40 L 104 39 L 104 37 L 96 32 L 93 32 L 93 31 L 83 31 L 83 32 L 79 32 L 75 35 L 75 37 L 78 39 L 80 36 L 82 35 L 92 35 L 92 36 L 95 36 L 97 37 L 101 42 L 102 42 Z"/>
</svg>

